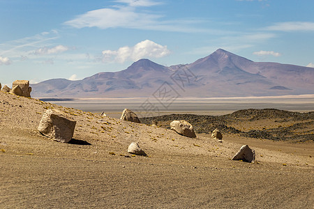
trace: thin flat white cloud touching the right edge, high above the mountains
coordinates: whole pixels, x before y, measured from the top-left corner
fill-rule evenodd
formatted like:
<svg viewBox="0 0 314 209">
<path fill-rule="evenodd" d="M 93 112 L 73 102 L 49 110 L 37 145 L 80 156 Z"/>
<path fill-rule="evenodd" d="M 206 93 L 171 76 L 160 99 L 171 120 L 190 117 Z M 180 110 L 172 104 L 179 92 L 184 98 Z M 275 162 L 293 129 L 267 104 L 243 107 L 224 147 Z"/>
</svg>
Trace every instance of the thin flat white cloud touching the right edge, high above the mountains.
<svg viewBox="0 0 314 209">
<path fill-rule="evenodd" d="M 314 31 L 314 22 L 277 22 L 265 28 L 269 31 Z"/>
</svg>

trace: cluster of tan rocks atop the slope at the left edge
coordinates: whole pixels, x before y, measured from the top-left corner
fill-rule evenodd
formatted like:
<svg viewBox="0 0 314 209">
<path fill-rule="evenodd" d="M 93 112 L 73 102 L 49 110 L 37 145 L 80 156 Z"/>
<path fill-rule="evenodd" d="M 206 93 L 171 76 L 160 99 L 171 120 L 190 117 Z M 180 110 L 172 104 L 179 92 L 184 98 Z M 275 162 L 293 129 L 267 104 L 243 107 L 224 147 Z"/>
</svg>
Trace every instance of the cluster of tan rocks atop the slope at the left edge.
<svg viewBox="0 0 314 209">
<path fill-rule="evenodd" d="M 27 80 L 16 80 L 12 84 L 12 89 L 6 85 L 4 85 L 3 88 L 1 88 L 0 84 L 0 89 L 3 92 L 13 93 L 15 95 L 23 96 L 26 98 L 31 97 L 31 87 L 29 86 L 29 81 Z"/>
</svg>

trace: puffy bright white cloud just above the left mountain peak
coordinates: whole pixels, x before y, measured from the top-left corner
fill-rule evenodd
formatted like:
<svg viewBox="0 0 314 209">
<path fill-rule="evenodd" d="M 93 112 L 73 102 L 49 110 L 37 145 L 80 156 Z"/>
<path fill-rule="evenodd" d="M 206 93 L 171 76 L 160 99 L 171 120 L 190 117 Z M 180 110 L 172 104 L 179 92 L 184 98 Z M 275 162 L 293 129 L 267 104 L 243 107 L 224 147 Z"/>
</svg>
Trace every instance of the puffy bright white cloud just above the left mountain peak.
<svg viewBox="0 0 314 209">
<path fill-rule="evenodd" d="M 116 61 L 119 63 L 124 63 L 125 61 L 137 61 L 142 58 L 159 58 L 170 54 L 170 50 L 167 46 L 158 45 L 156 42 L 151 40 L 144 40 L 138 42 L 133 47 L 120 47 L 117 50 L 104 50 L 102 61 L 111 62 Z"/>
</svg>

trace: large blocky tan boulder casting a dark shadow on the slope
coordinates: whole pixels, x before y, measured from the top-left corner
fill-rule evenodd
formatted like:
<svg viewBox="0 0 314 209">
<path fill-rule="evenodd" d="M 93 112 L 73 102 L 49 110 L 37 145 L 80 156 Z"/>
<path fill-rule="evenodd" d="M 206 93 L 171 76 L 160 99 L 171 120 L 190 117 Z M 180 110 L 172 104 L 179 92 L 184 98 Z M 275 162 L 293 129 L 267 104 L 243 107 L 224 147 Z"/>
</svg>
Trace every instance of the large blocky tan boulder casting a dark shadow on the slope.
<svg viewBox="0 0 314 209">
<path fill-rule="evenodd" d="M 55 141 L 68 143 L 75 130 L 76 121 L 63 114 L 62 111 L 47 109 L 40 120 L 38 130 Z"/>
</svg>

